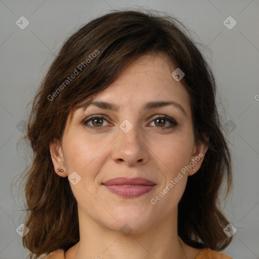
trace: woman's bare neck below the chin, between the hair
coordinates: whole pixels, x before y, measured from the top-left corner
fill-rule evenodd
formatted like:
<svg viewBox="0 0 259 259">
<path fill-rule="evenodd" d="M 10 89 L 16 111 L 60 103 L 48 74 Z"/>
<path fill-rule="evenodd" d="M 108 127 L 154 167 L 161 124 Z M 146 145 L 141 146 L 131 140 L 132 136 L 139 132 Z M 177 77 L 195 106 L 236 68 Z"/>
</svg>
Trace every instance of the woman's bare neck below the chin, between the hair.
<svg viewBox="0 0 259 259">
<path fill-rule="evenodd" d="M 87 217 L 79 208 L 78 216 L 80 241 L 73 247 L 72 252 L 71 248 L 69 249 L 66 259 L 121 259 L 122 255 L 123 259 L 188 258 L 186 244 L 177 233 L 177 211 L 170 221 L 161 219 L 148 229 L 131 233 L 109 229 Z M 130 230 L 129 227 L 126 229 Z"/>
</svg>

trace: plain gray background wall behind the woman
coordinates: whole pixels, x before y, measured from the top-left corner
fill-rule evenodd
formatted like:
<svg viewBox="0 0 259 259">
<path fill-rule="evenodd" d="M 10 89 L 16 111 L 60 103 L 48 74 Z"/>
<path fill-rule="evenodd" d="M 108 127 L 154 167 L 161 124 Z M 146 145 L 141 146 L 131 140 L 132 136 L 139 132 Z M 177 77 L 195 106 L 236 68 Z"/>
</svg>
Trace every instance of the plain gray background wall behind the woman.
<svg viewBox="0 0 259 259">
<path fill-rule="evenodd" d="M 233 242 L 224 250 L 239 259 L 259 258 L 259 2 L 243 1 L 8 1 L 0 0 L 0 259 L 25 258 L 16 228 L 23 223 L 22 196 L 11 183 L 25 165 L 17 141 L 32 100 L 46 69 L 75 28 L 126 7 L 155 9 L 175 15 L 204 47 L 221 93 L 220 111 L 234 156 L 234 190 L 224 211 L 235 226 Z M 25 16 L 29 25 L 16 21 Z M 228 29 L 232 16 L 237 25 Z M 228 22 L 228 20 L 227 20 Z M 228 22 L 230 26 L 232 21 Z M 24 23 L 23 23 L 24 24 Z M 223 109 L 224 107 L 224 109 Z M 213 235 L 213 233 L 211 233 Z"/>
</svg>

